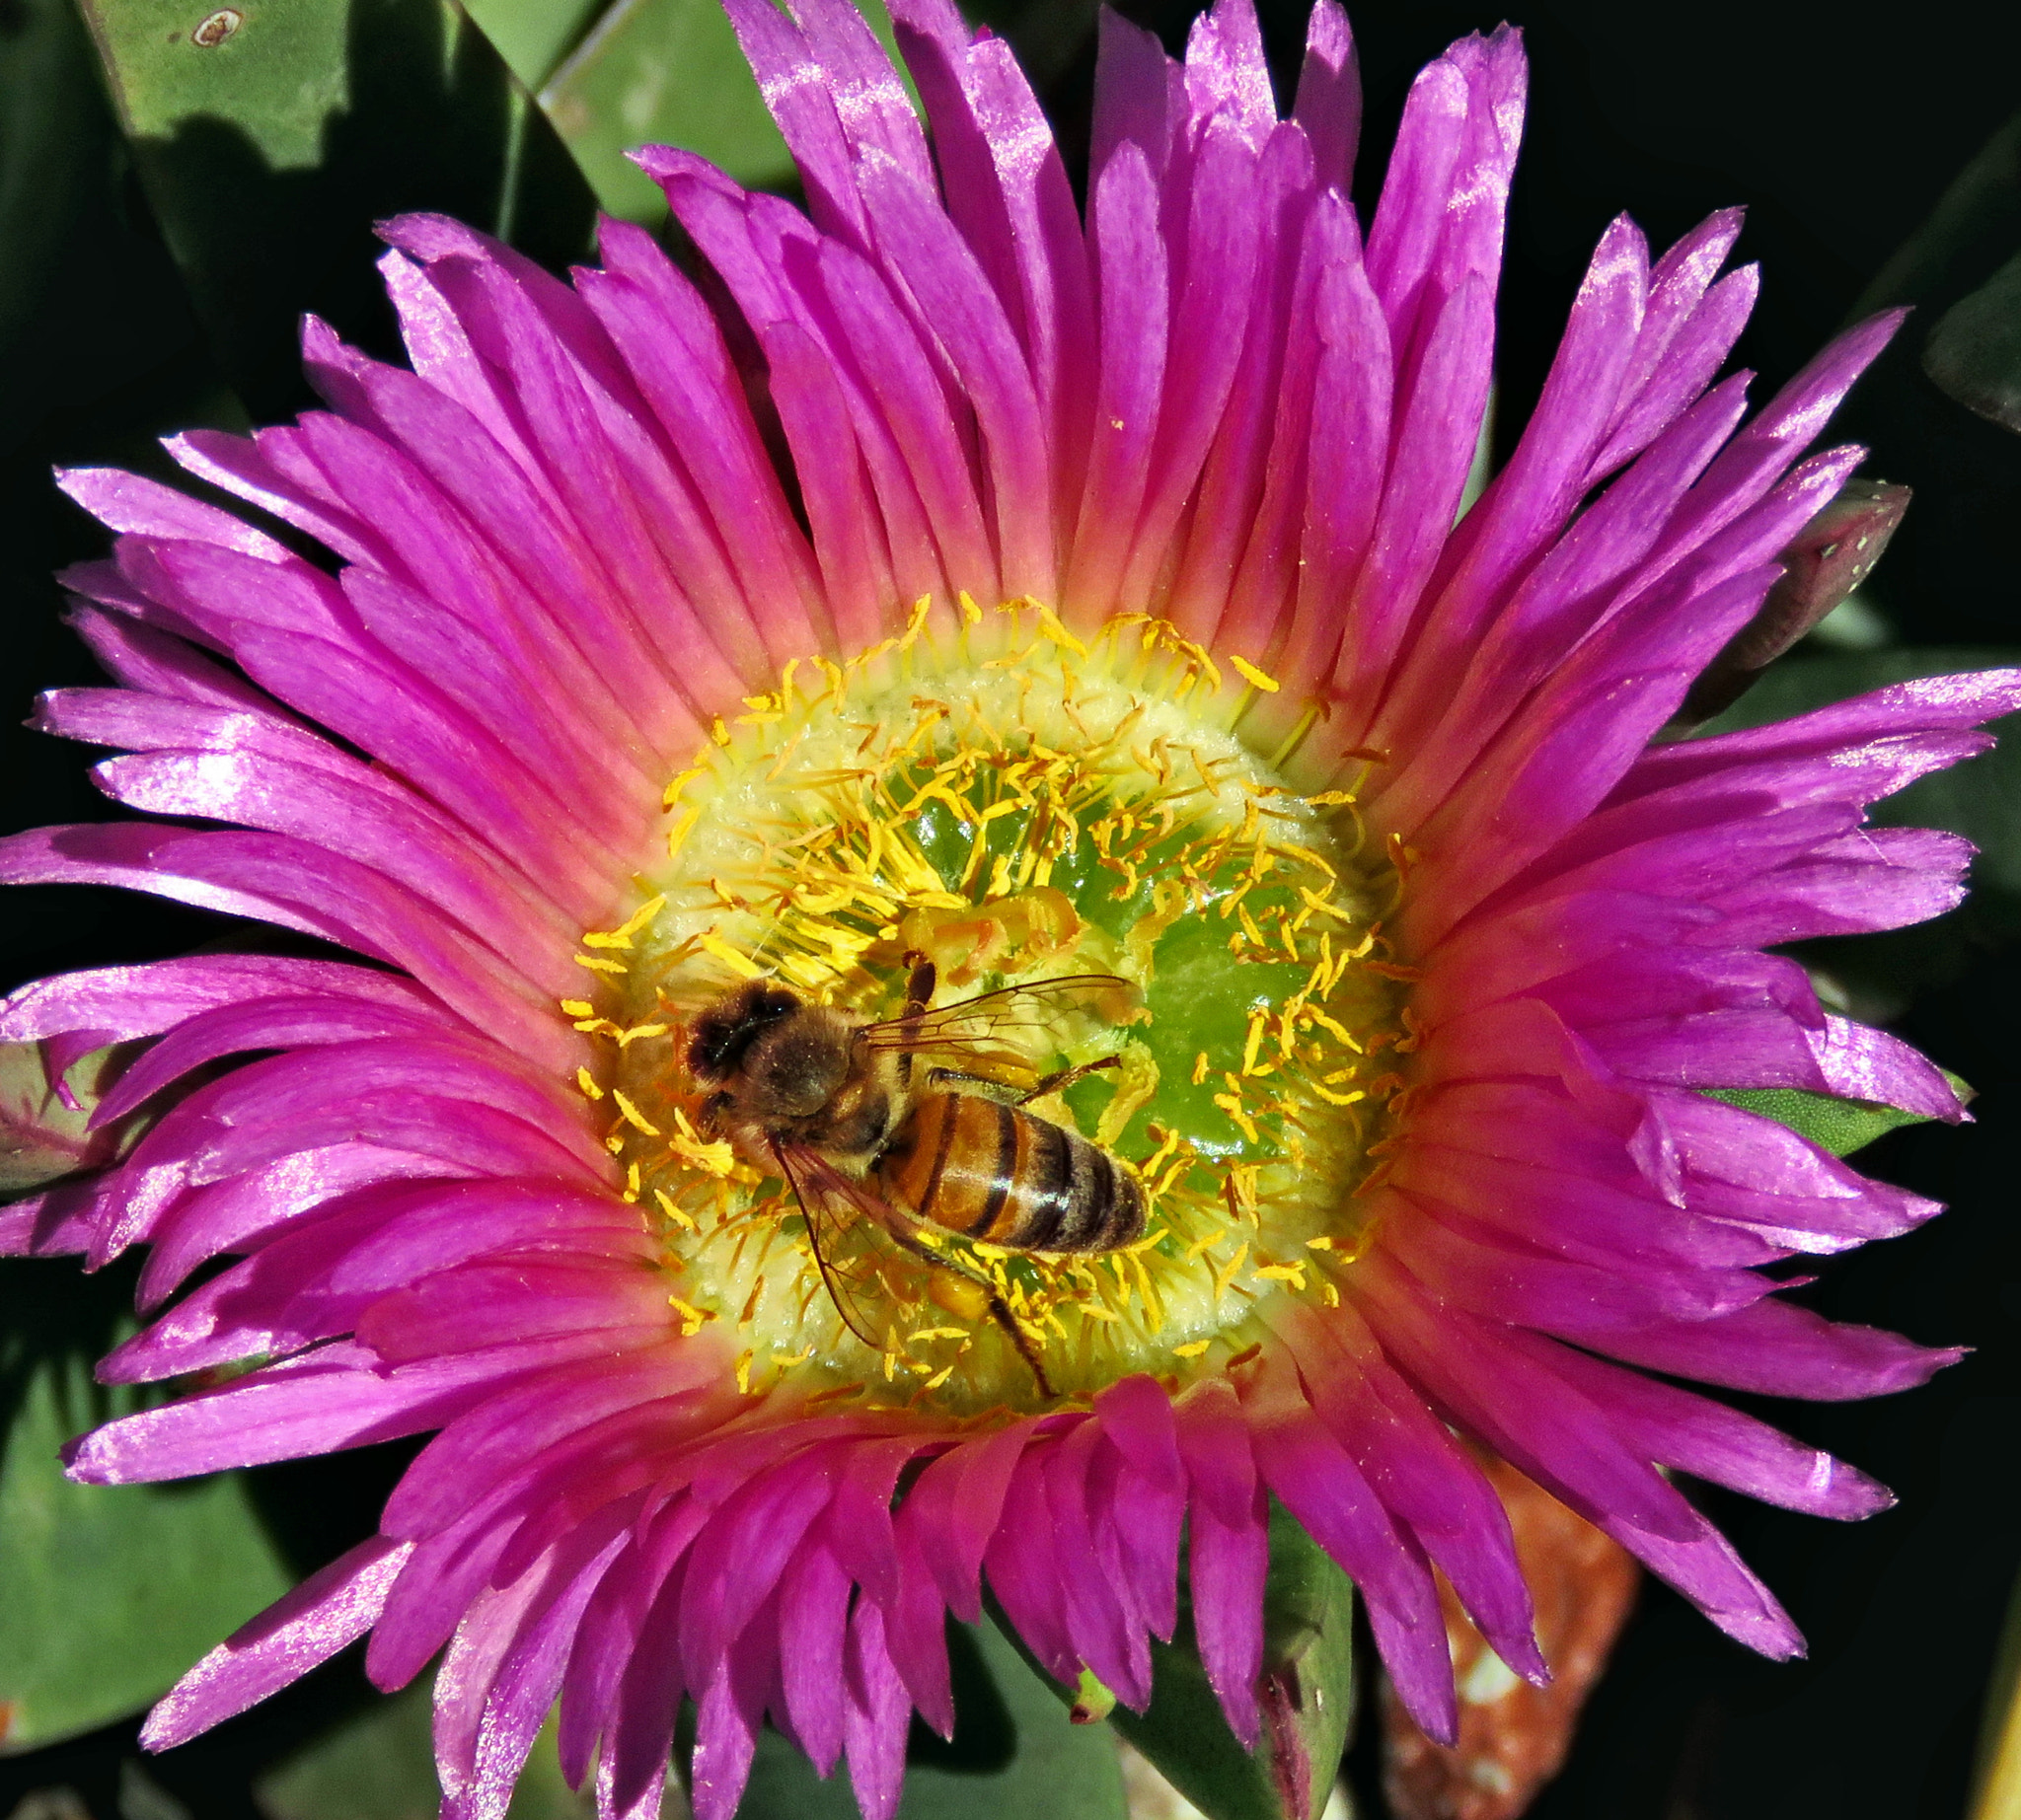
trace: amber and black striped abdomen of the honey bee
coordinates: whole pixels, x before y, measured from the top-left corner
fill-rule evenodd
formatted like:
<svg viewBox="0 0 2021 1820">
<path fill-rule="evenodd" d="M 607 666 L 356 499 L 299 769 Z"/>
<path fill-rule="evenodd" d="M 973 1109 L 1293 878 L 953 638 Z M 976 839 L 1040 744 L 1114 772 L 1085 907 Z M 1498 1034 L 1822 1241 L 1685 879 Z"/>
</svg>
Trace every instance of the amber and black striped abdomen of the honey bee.
<svg viewBox="0 0 2021 1820">
<path fill-rule="evenodd" d="M 1114 1250 L 1144 1234 L 1144 1190 L 1105 1149 L 974 1093 L 928 1093 L 877 1159 L 916 1218 L 1010 1250 Z"/>
</svg>

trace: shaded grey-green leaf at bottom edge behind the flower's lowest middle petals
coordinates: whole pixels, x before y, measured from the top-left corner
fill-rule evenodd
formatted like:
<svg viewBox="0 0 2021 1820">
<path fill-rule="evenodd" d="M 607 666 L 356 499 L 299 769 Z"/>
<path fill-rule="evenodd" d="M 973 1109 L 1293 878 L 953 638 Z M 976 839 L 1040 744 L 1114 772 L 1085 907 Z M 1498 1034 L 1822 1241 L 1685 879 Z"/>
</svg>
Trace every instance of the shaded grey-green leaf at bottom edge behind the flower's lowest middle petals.
<svg viewBox="0 0 2021 1820">
<path fill-rule="evenodd" d="M 899 1820 L 1126 1820 L 1116 1739 L 1071 1725 L 1053 1687 L 992 1626 L 948 1626 L 956 1727 L 913 1725 Z M 855 1820 L 847 1765 L 823 1782 L 776 1731 L 758 1739 L 738 1820 Z"/>
</svg>

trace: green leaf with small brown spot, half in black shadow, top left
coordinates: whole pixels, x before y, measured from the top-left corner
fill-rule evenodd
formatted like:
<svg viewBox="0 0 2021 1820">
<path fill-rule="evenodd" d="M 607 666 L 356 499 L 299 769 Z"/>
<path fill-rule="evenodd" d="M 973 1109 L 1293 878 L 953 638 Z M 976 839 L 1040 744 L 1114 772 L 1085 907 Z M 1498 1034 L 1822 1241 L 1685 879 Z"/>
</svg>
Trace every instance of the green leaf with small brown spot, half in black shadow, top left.
<svg viewBox="0 0 2021 1820">
<path fill-rule="evenodd" d="M 297 321 L 384 345 L 372 222 L 445 210 L 548 263 L 594 198 L 455 0 L 79 0 L 148 202 L 255 416 L 305 402 Z"/>
</svg>

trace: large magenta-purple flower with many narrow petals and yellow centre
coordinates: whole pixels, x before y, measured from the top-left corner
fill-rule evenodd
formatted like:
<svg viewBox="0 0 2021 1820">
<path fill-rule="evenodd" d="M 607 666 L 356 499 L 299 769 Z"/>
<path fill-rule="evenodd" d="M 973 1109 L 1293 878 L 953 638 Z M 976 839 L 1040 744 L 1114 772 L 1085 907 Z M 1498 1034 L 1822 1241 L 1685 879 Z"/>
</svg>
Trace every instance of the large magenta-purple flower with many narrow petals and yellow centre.
<svg viewBox="0 0 2021 1820">
<path fill-rule="evenodd" d="M 1855 1398 L 1954 1357 L 1774 1299 L 1758 1267 L 1936 1208 L 1704 1089 L 1962 1117 L 1762 947 L 1956 903 L 1960 840 L 1863 814 L 2021 675 L 1651 745 L 1853 471 L 1805 446 L 1894 319 L 1742 424 L 1738 216 L 1653 263 L 1619 220 L 1455 525 L 1514 32 L 1419 77 L 1364 234 L 1332 0 L 1285 121 L 1249 0 L 1184 67 L 1108 18 L 1085 224 L 1004 44 L 893 12 L 932 147 L 845 0 L 732 0 L 808 214 L 641 154 L 705 287 L 618 222 L 562 285 L 402 218 L 412 372 L 311 321 L 327 412 L 170 444 L 335 574 L 65 477 L 121 533 L 69 578 L 121 687 L 40 725 L 176 820 L 24 834 L 0 875 L 360 955 L 8 1002 L 59 1067 L 148 1040 L 97 1117 L 158 1119 L 0 1236 L 150 1246 L 109 1382 L 259 1361 L 71 1471 L 439 1430 L 154 1745 L 370 1634 L 388 1689 L 447 1648 L 445 1814 L 503 1812 L 556 1699 L 600 1812 L 657 1812 L 687 1693 L 703 1820 L 768 1715 L 877 1820 L 909 1713 L 952 1725 L 946 1612 L 986 1582 L 1061 1681 L 1142 1705 L 1182 1541 L 1255 1739 L 1271 1495 L 1449 1737 L 1433 1568 L 1546 1673 L 1453 1426 L 1787 1656 L 1661 1469 L 1886 1493 L 1665 1380 Z"/>
</svg>

